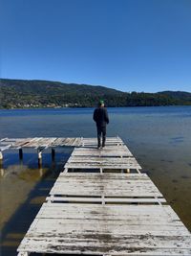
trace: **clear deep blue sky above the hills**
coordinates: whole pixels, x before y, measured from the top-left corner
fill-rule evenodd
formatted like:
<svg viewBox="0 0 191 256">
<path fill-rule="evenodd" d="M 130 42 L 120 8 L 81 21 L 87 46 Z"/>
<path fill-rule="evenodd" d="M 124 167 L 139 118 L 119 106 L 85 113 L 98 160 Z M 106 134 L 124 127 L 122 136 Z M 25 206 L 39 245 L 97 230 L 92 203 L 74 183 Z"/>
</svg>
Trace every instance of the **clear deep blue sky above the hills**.
<svg viewBox="0 0 191 256">
<path fill-rule="evenodd" d="M 1 78 L 191 91 L 191 0 L 1 0 Z"/>
</svg>

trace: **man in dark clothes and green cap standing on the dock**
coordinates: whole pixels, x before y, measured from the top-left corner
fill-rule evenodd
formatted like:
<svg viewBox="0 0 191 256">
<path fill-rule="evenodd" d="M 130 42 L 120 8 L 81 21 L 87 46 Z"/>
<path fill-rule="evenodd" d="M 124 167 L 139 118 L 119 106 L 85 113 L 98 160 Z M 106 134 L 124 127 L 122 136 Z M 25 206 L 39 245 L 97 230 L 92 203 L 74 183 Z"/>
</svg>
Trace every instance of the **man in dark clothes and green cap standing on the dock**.
<svg viewBox="0 0 191 256">
<path fill-rule="evenodd" d="M 109 124 L 109 117 L 104 102 L 99 101 L 98 107 L 95 109 L 93 119 L 96 122 L 97 129 L 97 149 L 101 148 L 101 134 L 102 134 L 102 148 L 105 147 L 106 140 L 106 125 Z"/>
</svg>

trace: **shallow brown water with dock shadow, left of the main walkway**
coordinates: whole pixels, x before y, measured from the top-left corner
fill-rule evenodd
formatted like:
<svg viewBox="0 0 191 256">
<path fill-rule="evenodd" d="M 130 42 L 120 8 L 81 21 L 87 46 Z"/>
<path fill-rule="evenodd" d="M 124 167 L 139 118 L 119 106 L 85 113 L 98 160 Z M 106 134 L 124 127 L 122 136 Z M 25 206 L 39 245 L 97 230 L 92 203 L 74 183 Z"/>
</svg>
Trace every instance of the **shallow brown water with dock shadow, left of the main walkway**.
<svg viewBox="0 0 191 256">
<path fill-rule="evenodd" d="M 18 152 L 5 154 L 0 177 L 1 256 L 16 255 L 17 246 L 49 195 L 69 155 L 70 150 L 57 151 L 52 161 L 51 153 L 44 152 L 39 166 L 36 153 L 25 153 L 22 160 L 19 160 Z"/>
</svg>

